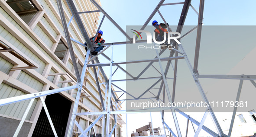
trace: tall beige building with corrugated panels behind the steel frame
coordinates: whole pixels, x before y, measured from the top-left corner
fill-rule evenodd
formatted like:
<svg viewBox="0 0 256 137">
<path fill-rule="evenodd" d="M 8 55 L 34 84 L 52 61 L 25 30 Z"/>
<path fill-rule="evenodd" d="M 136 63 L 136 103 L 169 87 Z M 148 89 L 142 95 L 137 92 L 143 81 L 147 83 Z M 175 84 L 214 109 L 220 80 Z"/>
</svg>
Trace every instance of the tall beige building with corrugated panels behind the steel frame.
<svg viewBox="0 0 256 137">
<path fill-rule="evenodd" d="M 100 4 L 100 0 L 96 1 Z M 74 3 L 79 12 L 97 10 L 89 0 L 74 0 Z M 62 6 L 68 23 L 72 17 L 71 10 L 65 0 L 62 0 Z M 100 14 L 97 12 L 81 14 L 89 36 L 96 33 L 98 16 Z M 70 37 L 81 43 L 85 42 L 75 20 L 68 25 Z M 0 0 L 0 99 L 76 85 L 77 77 L 63 31 L 56 0 Z M 81 72 L 86 51 L 73 41 L 72 46 L 75 62 Z M 104 83 L 103 74 L 100 71 L 97 73 L 99 82 Z M 102 111 L 91 67 L 87 67 L 83 87 L 78 112 Z M 100 85 L 103 99 L 105 88 L 104 84 Z M 71 89 L 43 97 L 58 137 L 67 135 L 76 93 L 77 89 Z M 13 136 L 28 104 L 29 100 L 26 100 L 0 107 L 1 137 Z M 121 107 L 118 108 L 120 109 Z M 121 119 L 121 115 L 117 117 Z M 85 129 L 95 118 L 95 115 L 77 116 L 76 120 Z M 113 117 L 111 120 L 110 126 L 113 125 Z M 95 124 L 97 134 L 102 133 L 102 122 L 100 120 Z M 121 137 L 122 124 L 120 120 L 117 123 L 116 134 Z M 73 131 L 80 132 L 77 127 Z M 52 128 L 41 99 L 37 98 L 18 137 L 51 135 Z"/>
</svg>

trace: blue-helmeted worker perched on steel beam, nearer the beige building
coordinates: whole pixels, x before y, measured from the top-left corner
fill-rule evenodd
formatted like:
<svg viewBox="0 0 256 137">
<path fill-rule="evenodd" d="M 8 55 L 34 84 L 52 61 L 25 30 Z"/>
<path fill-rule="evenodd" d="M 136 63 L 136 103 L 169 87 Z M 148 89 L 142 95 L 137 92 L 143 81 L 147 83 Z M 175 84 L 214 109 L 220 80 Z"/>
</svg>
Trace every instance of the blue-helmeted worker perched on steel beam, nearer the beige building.
<svg viewBox="0 0 256 137">
<path fill-rule="evenodd" d="M 92 55 L 97 55 L 98 52 L 100 52 L 104 48 L 104 46 L 100 46 L 101 43 L 103 44 L 105 42 L 105 40 L 103 38 L 101 38 L 102 35 L 103 35 L 103 32 L 100 30 L 98 32 L 97 37 L 95 38 L 95 40 L 94 40 L 94 37 L 90 38 L 91 42 L 94 41 L 95 44 L 99 45 L 99 47 L 94 47 L 95 50 L 92 51 L 92 53 L 91 53 Z M 87 43 L 85 42 L 84 45 L 87 45 Z M 87 52 L 87 47 L 85 47 L 85 50 Z"/>
</svg>

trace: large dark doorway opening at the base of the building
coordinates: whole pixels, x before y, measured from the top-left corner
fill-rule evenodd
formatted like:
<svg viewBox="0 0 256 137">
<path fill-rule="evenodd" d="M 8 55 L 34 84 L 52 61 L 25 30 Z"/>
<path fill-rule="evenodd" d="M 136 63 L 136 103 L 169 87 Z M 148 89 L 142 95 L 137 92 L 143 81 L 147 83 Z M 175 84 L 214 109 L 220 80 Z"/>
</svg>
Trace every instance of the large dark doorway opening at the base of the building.
<svg viewBox="0 0 256 137">
<path fill-rule="evenodd" d="M 45 104 L 58 137 L 65 136 L 71 102 L 59 94 L 46 96 Z M 44 108 L 42 108 L 32 137 L 54 137 Z"/>
</svg>

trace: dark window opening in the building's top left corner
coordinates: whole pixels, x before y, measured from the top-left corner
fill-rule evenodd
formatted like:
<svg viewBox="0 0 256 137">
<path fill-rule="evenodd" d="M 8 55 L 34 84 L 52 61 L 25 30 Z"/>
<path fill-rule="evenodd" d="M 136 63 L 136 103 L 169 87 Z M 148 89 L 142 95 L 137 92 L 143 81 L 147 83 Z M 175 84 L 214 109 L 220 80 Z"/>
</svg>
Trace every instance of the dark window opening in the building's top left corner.
<svg viewBox="0 0 256 137">
<path fill-rule="evenodd" d="M 6 3 L 29 25 L 39 11 L 31 0 L 7 0 Z"/>
</svg>

